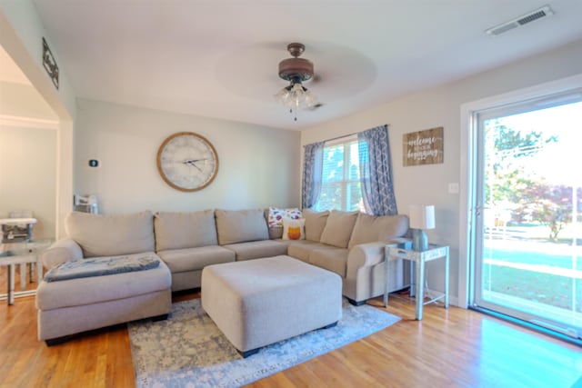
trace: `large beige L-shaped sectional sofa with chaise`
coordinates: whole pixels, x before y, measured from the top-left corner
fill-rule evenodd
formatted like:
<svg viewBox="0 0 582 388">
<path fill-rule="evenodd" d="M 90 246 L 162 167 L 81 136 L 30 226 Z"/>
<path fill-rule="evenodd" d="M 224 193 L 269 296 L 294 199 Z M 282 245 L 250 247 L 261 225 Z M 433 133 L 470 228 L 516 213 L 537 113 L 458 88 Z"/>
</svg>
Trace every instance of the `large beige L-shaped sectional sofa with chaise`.
<svg viewBox="0 0 582 388">
<path fill-rule="evenodd" d="M 164 316 L 171 309 L 171 292 L 200 287 L 206 265 L 276 255 L 289 255 L 339 274 L 346 298 L 354 304 L 365 303 L 384 292 L 385 245 L 405 241 L 408 232 L 406 215 L 305 210 L 300 233 L 287 239 L 282 227 L 269 227 L 267 212 L 69 214 L 67 237 L 42 256 L 47 275 L 65 264 L 78 270 L 84 259 L 105 260 L 106 265 L 119 260 L 159 263 L 144 271 L 119 273 L 115 268 L 114 273 L 54 282 L 45 276 L 36 295 L 39 340 Z M 403 288 L 402 264 L 390 268 L 389 291 Z"/>
</svg>

